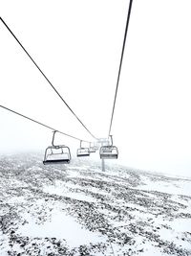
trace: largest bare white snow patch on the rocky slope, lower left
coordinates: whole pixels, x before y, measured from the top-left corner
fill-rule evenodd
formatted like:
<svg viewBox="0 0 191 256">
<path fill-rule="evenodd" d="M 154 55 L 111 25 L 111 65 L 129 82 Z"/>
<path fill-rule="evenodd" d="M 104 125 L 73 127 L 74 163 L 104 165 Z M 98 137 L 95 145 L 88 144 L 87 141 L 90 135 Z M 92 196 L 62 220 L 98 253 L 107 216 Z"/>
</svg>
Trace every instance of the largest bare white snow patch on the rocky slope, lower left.
<svg viewBox="0 0 191 256">
<path fill-rule="evenodd" d="M 74 221 L 74 218 L 64 212 L 53 210 L 51 221 L 37 224 L 31 215 L 26 214 L 23 218 L 28 222 L 21 225 L 17 233 L 30 237 L 56 237 L 64 239 L 71 247 L 81 244 L 105 242 L 106 238 L 99 233 L 84 229 L 82 225 Z"/>
</svg>

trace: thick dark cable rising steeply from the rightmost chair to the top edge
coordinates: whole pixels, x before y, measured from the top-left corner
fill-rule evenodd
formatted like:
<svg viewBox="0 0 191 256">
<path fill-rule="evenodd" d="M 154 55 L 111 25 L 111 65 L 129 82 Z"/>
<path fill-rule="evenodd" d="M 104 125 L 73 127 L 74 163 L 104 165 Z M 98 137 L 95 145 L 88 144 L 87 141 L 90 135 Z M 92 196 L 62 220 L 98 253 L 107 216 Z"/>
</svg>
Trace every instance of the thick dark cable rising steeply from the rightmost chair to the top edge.
<svg viewBox="0 0 191 256">
<path fill-rule="evenodd" d="M 113 105 L 113 109 L 112 109 L 112 117 L 111 117 L 111 122 L 110 122 L 108 138 L 109 138 L 110 133 L 111 133 L 112 123 L 113 123 L 113 118 L 114 118 L 114 111 L 115 111 L 115 106 L 116 106 L 116 101 L 117 101 L 118 83 L 119 83 L 119 78 L 120 78 L 120 70 L 121 70 L 121 66 L 122 66 L 122 59 L 123 59 L 123 54 L 124 54 L 124 49 L 125 49 L 125 42 L 126 42 L 127 31 L 128 31 L 128 27 L 129 27 L 129 20 L 130 20 L 130 15 L 131 15 L 132 4 L 133 4 L 133 0 L 130 0 L 129 1 L 128 14 L 127 14 L 127 21 L 126 21 L 126 26 L 125 26 L 125 33 L 124 33 L 123 44 L 122 44 L 120 63 L 119 63 L 119 68 L 118 68 L 117 87 L 116 87 L 116 93 L 115 93 L 115 98 L 114 98 L 114 105 Z"/>
</svg>

